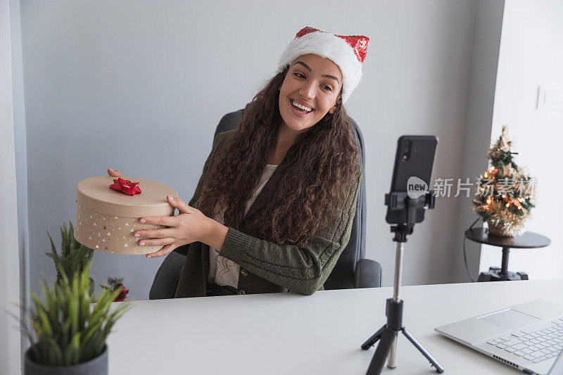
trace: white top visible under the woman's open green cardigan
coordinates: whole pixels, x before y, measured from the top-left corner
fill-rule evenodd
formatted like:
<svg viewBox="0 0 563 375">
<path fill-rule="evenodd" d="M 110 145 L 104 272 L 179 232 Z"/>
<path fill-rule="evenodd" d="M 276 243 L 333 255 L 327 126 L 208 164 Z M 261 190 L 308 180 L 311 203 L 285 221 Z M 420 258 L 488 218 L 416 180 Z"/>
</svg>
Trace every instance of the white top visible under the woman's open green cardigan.
<svg viewBox="0 0 563 375">
<path fill-rule="evenodd" d="M 272 174 L 274 173 L 274 170 L 276 170 L 276 168 L 277 165 L 272 165 L 272 164 L 266 165 L 264 173 L 262 174 L 262 177 L 260 177 L 260 183 L 258 184 L 258 187 L 255 189 L 251 198 L 248 200 L 248 203 L 246 203 L 246 210 L 244 211 L 244 215 L 246 215 L 248 210 L 251 208 L 251 205 L 254 203 L 258 194 L 260 194 L 260 191 L 262 191 L 262 188 L 264 187 L 268 179 L 272 177 Z M 224 209 L 219 214 L 215 215 L 215 217 L 213 217 L 213 220 L 217 220 L 217 222 L 224 224 L 223 214 L 224 214 Z M 215 248 L 211 246 L 209 247 L 208 281 L 210 283 L 215 282 L 215 284 L 217 285 L 221 285 L 221 286 L 228 285 L 228 286 L 232 286 L 233 288 L 236 288 L 239 285 L 240 270 L 241 270 L 241 266 L 237 265 L 232 260 L 223 258 L 220 255 L 220 253 L 217 250 L 215 250 Z"/>
</svg>

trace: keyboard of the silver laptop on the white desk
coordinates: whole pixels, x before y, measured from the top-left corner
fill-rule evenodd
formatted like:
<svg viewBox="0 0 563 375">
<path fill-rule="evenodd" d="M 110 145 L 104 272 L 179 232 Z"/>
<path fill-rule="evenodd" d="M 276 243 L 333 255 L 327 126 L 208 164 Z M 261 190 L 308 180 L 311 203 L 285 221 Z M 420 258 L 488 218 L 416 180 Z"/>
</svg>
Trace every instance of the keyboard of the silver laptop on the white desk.
<svg viewBox="0 0 563 375">
<path fill-rule="evenodd" d="M 522 329 L 487 343 L 533 363 L 549 360 L 563 349 L 563 318 L 552 320 L 536 331 Z"/>
</svg>

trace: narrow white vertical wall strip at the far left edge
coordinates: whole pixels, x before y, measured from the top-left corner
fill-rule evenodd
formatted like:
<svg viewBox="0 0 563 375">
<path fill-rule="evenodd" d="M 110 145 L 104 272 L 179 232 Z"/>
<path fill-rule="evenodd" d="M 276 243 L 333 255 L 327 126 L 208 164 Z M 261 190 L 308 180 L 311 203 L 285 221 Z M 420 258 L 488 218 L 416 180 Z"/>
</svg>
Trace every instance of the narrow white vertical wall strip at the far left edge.
<svg viewBox="0 0 563 375">
<path fill-rule="evenodd" d="M 0 1 L 0 374 L 20 373 L 20 251 L 15 186 L 11 20 Z"/>
</svg>

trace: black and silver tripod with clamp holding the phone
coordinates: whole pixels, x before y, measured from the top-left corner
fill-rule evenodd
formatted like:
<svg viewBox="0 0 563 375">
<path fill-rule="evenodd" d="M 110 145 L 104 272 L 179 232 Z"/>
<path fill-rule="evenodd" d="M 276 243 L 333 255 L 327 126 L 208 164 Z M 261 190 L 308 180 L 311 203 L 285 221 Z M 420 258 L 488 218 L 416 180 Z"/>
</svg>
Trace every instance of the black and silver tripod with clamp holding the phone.
<svg viewBox="0 0 563 375">
<path fill-rule="evenodd" d="M 379 331 L 374 333 L 372 337 L 362 344 L 362 349 L 368 350 L 379 341 L 379 345 L 377 345 L 377 349 L 372 357 L 372 362 L 369 363 L 369 367 L 367 368 L 366 375 L 381 374 L 387 357 L 387 367 L 390 369 L 396 367 L 395 357 L 399 331 L 402 331 L 403 335 L 409 339 L 412 345 L 415 345 L 422 355 L 430 361 L 431 366 L 436 367 L 436 372 L 441 374 L 444 371 L 442 365 L 439 364 L 403 326 L 403 300 L 399 298 L 400 277 L 401 271 L 403 270 L 403 244 L 407 242 L 407 235 L 412 234 L 415 227 L 417 210 L 421 208 L 434 208 L 436 205 L 436 196 L 434 195 L 434 191 L 426 191 L 422 196 L 410 198 L 406 192 L 392 191 L 385 195 L 385 205 L 388 205 L 390 210 L 407 210 L 407 222 L 391 226 L 391 231 L 395 233 L 393 241 L 397 242 L 393 298 L 387 299 L 385 310 L 387 324 L 382 326 Z"/>
</svg>

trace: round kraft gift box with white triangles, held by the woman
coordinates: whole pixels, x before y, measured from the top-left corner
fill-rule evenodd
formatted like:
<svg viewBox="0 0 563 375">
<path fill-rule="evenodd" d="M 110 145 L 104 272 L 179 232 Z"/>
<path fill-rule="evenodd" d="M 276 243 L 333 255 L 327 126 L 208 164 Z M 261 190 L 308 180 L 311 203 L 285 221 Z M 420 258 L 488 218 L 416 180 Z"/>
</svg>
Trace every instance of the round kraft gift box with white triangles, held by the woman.
<svg viewBox="0 0 563 375">
<path fill-rule="evenodd" d="M 166 196 L 178 198 L 174 189 L 148 179 L 121 177 L 139 182 L 141 193 L 129 196 L 110 189 L 117 177 L 91 177 L 76 186 L 75 239 L 82 245 L 106 253 L 140 255 L 154 253 L 163 246 L 138 246 L 134 231 L 164 228 L 141 224 L 148 216 L 171 216 L 174 208 Z"/>
</svg>

